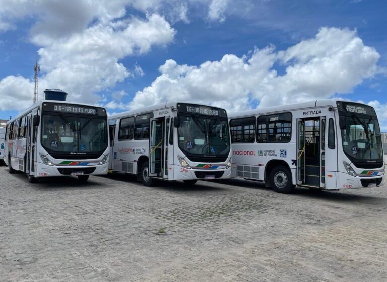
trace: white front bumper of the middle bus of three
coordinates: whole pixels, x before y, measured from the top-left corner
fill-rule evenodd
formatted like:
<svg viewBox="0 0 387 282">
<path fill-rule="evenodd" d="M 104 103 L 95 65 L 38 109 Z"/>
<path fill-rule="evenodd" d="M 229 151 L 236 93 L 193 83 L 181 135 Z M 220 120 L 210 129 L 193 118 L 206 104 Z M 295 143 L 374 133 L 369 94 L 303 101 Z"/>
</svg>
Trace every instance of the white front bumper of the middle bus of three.
<svg viewBox="0 0 387 282">
<path fill-rule="evenodd" d="M 179 165 L 173 166 L 174 180 L 215 180 L 231 177 L 231 167 L 227 169 L 186 169 Z"/>
</svg>

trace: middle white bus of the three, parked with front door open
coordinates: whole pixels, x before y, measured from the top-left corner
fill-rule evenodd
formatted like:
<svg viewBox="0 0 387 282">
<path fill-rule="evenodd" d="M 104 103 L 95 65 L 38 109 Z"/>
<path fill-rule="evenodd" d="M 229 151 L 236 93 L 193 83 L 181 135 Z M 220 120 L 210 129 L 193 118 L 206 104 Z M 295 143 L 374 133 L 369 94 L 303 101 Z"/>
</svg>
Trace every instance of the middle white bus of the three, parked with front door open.
<svg viewBox="0 0 387 282">
<path fill-rule="evenodd" d="M 153 179 L 224 179 L 231 175 L 230 131 L 223 109 L 167 102 L 109 116 L 109 172 Z"/>
</svg>

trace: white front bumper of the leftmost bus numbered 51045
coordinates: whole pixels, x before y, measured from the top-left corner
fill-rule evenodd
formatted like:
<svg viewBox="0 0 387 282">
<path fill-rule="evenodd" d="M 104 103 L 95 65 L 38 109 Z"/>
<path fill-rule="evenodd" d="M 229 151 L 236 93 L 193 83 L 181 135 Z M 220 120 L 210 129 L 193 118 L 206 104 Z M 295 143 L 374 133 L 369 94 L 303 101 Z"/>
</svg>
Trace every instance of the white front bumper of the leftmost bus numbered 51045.
<svg viewBox="0 0 387 282">
<path fill-rule="evenodd" d="M 109 162 L 103 165 L 93 166 L 49 166 L 43 163 L 36 163 L 35 177 L 50 177 L 50 176 L 74 176 L 74 175 L 101 175 L 107 174 Z"/>
</svg>

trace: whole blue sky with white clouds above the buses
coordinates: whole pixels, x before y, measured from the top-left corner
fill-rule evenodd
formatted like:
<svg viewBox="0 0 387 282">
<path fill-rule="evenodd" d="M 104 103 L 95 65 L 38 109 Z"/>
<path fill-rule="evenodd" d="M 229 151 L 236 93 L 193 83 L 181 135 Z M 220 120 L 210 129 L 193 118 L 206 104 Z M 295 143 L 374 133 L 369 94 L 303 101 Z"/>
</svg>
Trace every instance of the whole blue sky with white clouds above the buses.
<svg viewBox="0 0 387 282">
<path fill-rule="evenodd" d="M 230 111 L 340 97 L 387 131 L 386 1 L 0 0 L 0 118 L 44 88 L 110 113 L 183 99 Z"/>
</svg>

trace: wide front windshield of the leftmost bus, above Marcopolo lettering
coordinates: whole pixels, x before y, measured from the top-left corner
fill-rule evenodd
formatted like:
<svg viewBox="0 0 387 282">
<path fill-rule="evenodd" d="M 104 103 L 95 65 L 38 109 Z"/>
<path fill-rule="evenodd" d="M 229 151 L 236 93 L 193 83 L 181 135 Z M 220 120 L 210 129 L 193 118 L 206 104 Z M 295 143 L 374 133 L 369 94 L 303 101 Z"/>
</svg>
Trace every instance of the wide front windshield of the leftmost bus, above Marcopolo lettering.
<svg viewBox="0 0 387 282">
<path fill-rule="evenodd" d="M 108 145 L 106 117 L 44 114 L 41 143 L 49 153 L 103 151 Z"/>
</svg>

